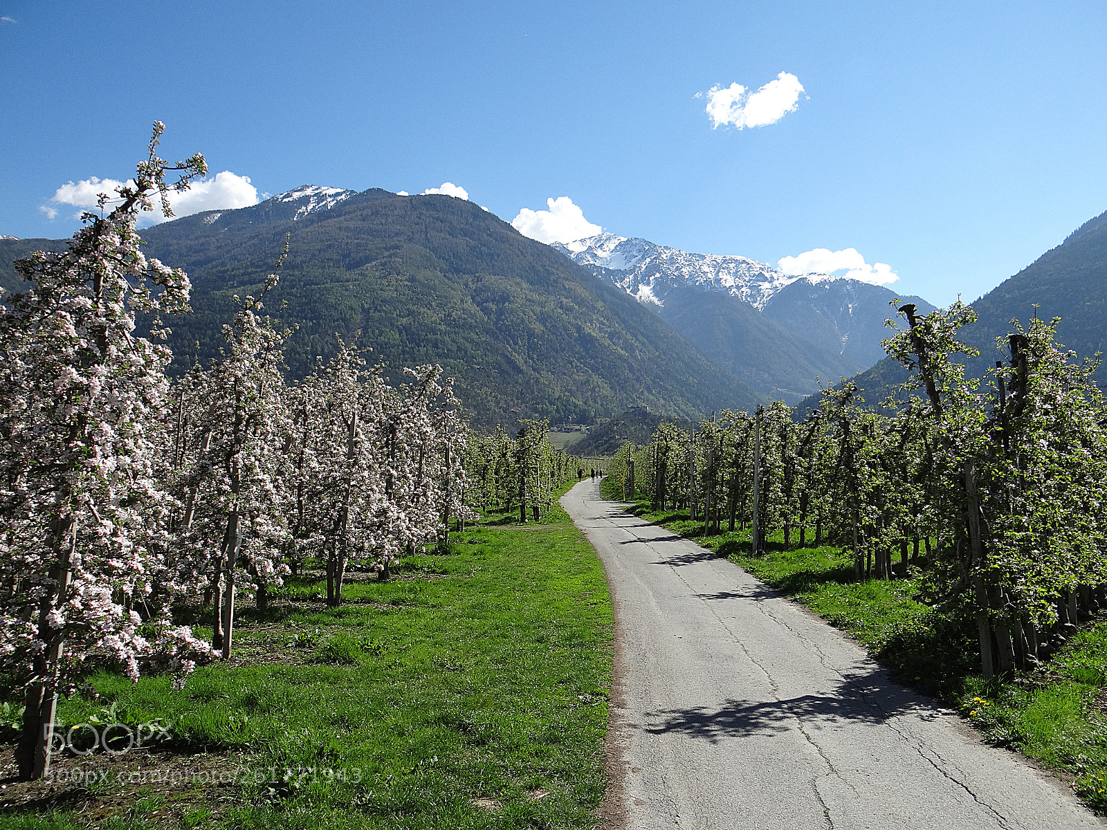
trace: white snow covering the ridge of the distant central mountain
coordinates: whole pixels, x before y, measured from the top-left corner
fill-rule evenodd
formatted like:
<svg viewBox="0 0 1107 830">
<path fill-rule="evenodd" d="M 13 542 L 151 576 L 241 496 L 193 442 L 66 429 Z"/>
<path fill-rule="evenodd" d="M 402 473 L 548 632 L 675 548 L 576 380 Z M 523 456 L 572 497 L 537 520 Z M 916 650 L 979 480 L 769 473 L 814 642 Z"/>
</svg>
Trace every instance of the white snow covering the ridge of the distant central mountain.
<svg viewBox="0 0 1107 830">
<path fill-rule="evenodd" d="M 705 291 L 725 291 L 762 311 L 774 294 L 797 280 L 845 279 L 826 273 L 786 274 L 748 257 L 691 253 L 615 234 L 554 242 L 552 247 L 597 276 L 606 276 L 640 302 L 656 305 L 664 305 L 670 289 L 691 284 Z"/>
</svg>

